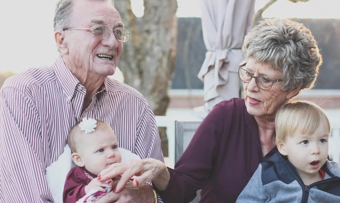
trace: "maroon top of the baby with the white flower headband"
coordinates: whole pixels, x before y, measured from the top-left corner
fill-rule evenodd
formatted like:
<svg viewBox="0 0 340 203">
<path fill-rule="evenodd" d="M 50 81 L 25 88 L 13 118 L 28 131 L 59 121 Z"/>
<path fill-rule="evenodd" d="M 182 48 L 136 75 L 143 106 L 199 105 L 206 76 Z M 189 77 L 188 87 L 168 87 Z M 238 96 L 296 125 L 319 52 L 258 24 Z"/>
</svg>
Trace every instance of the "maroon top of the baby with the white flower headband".
<svg viewBox="0 0 340 203">
<path fill-rule="evenodd" d="M 96 176 L 83 167 L 73 167 L 67 174 L 64 192 L 64 203 L 75 203 L 86 195 L 85 186 Z"/>
</svg>

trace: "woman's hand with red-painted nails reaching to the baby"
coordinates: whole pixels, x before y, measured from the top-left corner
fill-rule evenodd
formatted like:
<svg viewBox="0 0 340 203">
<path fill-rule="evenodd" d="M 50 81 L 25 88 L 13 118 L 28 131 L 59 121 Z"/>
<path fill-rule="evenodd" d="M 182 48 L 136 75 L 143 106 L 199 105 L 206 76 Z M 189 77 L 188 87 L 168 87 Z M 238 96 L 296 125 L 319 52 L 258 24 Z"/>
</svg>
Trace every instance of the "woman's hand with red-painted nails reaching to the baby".
<svg viewBox="0 0 340 203">
<path fill-rule="evenodd" d="M 125 184 L 133 177 L 133 186 L 138 187 L 153 181 L 159 190 L 165 190 L 170 181 L 170 173 L 166 165 L 155 159 L 130 160 L 126 163 L 115 163 L 104 169 L 99 176 L 101 182 L 120 176 L 114 192 L 120 192 Z"/>
</svg>

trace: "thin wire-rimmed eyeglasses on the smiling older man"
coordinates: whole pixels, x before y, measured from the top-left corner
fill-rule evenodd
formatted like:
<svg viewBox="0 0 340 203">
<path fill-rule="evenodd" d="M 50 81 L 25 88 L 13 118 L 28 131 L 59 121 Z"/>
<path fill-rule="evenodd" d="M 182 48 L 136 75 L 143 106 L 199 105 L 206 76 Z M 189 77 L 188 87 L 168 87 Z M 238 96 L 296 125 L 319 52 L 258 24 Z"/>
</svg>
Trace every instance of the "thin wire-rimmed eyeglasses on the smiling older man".
<svg viewBox="0 0 340 203">
<path fill-rule="evenodd" d="M 102 36 L 103 39 L 106 39 L 111 32 L 114 33 L 116 38 L 119 41 L 126 42 L 129 40 L 129 36 L 131 33 L 129 33 L 128 30 L 126 30 L 124 27 L 117 27 L 114 30 L 111 30 L 108 26 L 106 25 L 95 25 L 93 27 L 86 27 L 86 28 L 67 28 L 63 30 L 89 30 L 95 35 Z"/>
</svg>

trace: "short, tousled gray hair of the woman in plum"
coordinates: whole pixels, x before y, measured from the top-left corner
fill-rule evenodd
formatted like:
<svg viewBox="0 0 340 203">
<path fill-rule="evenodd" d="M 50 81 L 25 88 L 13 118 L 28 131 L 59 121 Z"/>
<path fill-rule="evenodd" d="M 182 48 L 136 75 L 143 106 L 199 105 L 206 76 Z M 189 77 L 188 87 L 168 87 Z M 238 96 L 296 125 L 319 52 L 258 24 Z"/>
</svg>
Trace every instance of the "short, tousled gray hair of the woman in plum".
<svg viewBox="0 0 340 203">
<path fill-rule="evenodd" d="M 253 58 L 256 62 L 268 63 L 275 70 L 282 71 L 284 91 L 299 86 L 300 91 L 312 88 L 322 63 L 317 42 L 310 30 L 302 23 L 289 19 L 260 21 L 245 36 L 242 50 L 245 61 Z"/>
</svg>

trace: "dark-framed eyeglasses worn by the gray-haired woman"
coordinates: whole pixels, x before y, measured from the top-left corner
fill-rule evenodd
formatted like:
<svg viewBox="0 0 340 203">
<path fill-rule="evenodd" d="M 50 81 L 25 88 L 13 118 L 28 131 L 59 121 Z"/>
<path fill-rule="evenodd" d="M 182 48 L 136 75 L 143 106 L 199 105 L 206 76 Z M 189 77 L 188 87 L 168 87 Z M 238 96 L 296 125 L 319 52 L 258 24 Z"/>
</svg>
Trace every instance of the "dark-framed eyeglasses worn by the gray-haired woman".
<svg viewBox="0 0 340 203">
<path fill-rule="evenodd" d="M 238 67 L 238 75 L 245 83 L 249 83 L 252 78 L 255 78 L 257 87 L 259 87 L 261 90 L 270 90 L 275 82 L 282 81 L 282 79 L 272 80 L 262 76 L 253 76 L 251 73 L 242 68 L 245 66 L 245 64 L 246 63 Z"/>
</svg>

